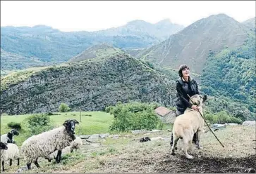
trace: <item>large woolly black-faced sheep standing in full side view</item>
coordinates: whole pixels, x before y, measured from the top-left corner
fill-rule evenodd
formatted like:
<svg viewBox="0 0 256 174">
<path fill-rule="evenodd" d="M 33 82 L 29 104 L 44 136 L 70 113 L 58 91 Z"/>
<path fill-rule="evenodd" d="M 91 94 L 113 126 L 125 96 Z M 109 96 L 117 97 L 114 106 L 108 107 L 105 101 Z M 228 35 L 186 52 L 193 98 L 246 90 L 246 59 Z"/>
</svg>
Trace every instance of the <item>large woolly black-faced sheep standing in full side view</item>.
<svg viewBox="0 0 256 174">
<path fill-rule="evenodd" d="M 31 163 L 34 162 L 37 168 L 40 168 L 37 159 L 47 157 L 52 152 L 58 150 L 56 158 L 57 163 L 61 161 L 61 149 L 71 145 L 75 140 L 75 119 L 68 119 L 63 126 L 54 128 L 51 131 L 33 135 L 23 142 L 20 152 L 27 161 L 28 170 L 31 170 Z"/>
</svg>

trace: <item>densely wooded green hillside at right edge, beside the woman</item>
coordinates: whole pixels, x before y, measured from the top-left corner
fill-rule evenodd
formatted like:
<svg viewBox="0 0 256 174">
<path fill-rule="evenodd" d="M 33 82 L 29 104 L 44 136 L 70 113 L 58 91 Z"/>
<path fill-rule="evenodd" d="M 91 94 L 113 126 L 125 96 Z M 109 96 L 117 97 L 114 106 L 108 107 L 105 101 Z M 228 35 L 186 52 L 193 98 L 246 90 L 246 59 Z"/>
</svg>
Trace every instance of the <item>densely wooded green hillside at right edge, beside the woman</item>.
<svg viewBox="0 0 256 174">
<path fill-rule="evenodd" d="M 240 48 L 210 53 L 202 72 L 202 84 L 205 93 L 236 102 L 235 106 L 227 102 L 230 110 L 238 107 L 255 112 L 255 35 L 251 34 Z"/>
</svg>

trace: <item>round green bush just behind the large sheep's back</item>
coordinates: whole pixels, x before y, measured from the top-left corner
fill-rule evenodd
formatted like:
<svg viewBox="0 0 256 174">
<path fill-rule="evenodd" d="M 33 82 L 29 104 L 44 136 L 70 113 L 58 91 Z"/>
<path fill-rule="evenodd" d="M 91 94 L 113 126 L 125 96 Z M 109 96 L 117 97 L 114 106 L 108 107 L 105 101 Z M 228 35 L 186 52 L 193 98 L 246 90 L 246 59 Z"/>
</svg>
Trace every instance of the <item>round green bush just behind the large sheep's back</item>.
<svg viewBox="0 0 256 174">
<path fill-rule="evenodd" d="M 25 125 L 30 129 L 30 133 L 32 135 L 37 135 L 54 128 L 54 124 L 47 114 L 30 115 L 24 120 L 24 122 Z"/>
</svg>

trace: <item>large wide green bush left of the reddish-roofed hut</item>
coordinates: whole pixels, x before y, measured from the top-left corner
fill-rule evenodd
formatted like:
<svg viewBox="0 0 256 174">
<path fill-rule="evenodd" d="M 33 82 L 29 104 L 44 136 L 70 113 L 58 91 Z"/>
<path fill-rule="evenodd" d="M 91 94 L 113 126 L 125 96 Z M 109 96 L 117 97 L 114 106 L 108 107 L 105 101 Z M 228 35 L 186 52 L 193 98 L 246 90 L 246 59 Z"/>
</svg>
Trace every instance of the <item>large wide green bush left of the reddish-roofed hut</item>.
<svg viewBox="0 0 256 174">
<path fill-rule="evenodd" d="M 111 131 L 163 128 L 163 123 L 154 113 L 155 107 L 155 104 L 140 102 L 118 103 L 110 110 L 110 113 L 114 114 L 114 122 L 110 126 Z"/>
</svg>

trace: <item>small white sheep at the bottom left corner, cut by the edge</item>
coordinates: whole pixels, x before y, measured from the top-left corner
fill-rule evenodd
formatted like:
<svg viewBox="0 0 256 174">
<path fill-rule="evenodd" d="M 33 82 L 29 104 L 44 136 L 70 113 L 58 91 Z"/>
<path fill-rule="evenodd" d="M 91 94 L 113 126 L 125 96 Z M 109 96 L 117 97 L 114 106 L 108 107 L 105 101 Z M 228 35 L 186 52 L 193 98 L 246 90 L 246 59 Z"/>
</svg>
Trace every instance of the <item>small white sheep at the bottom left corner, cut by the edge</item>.
<svg viewBox="0 0 256 174">
<path fill-rule="evenodd" d="M 20 165 L 20 150 L 18 149 L 18 146 L 13 143 L 8 143 L 6 145 L 8 149 L 1 150 L 1 162 L 2 167 L 4 171 L 4 161 L 8 161 L 10 159 L 10 166 L 12 165 L 12 160 L 17 159 L 18 163 L 17 165 Z"/>
</svg>

